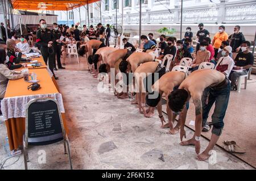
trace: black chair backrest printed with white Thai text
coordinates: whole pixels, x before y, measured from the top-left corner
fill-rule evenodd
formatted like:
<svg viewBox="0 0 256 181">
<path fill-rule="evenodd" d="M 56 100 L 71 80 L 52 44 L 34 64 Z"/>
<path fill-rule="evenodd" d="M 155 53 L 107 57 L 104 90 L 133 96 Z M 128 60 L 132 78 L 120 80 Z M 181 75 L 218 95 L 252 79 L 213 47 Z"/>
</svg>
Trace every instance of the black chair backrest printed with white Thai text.
<svg viewBox="0 0 256 181">
<path fill-rule="evenodd" d="M 52 100 L 30 104 L 28 107 L 28 143 L 47 145 L 62 139 L 57 104 Z"/>
</svg>

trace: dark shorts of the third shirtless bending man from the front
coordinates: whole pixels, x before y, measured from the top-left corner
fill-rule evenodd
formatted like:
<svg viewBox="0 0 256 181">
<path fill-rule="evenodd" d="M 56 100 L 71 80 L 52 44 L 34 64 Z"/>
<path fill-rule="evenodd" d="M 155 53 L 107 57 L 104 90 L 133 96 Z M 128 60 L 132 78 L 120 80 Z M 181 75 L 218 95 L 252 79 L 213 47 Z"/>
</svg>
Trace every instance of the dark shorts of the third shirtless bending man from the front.
<svg viewBox="0 0 256 181">
<path fill-rule="evenodd" d="M 158 73 L 158 77 L 157 75 L 155 77 L 155 73 Z M 152 92 L 151 86 L 166 73 L 166 68 L 163 67 L 155 73 L 152 73 L 143 79 L 144 90 L 146 90 L 146 92 Z"/>
</svg>

